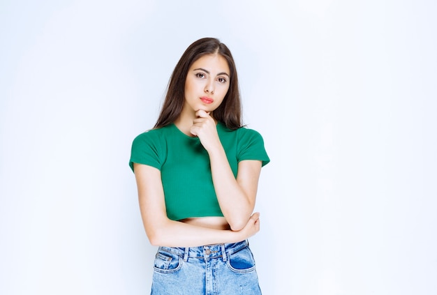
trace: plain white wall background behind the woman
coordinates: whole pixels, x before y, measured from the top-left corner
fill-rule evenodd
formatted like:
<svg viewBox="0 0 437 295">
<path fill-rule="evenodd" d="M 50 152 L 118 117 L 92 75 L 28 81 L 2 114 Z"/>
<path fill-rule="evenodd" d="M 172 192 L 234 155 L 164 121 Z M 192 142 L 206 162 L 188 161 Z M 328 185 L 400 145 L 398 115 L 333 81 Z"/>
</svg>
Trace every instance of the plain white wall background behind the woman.
<svg viewBox="0 0 437 295">
<path fill-rule="evenodd" d="M 264 294 L 437 294 L 436 3 L 2 0 L 0 294 L 148 294 L 131 141 L 204 36 L 272 158 Z"/>
</svg>

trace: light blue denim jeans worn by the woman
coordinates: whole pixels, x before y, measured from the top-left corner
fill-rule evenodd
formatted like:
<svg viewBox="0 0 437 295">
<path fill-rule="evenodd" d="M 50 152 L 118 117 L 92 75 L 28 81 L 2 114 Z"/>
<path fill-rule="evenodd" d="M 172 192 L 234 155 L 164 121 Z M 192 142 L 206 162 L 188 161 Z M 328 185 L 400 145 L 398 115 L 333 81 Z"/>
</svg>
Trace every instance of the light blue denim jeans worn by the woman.
<svg viewBox="0 0 437 295">
<path fill-rule="evenodd" d="M 249 243 L 159 247 L 151 294 L 261 294 Z"/>
</svg>

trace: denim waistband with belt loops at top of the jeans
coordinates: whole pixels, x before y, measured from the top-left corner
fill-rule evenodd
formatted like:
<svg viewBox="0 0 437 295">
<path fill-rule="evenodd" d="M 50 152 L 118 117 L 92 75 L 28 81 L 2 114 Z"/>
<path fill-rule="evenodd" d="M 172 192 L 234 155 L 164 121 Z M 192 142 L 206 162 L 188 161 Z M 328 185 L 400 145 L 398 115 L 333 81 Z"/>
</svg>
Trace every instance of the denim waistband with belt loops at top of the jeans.
<svg viewBox="0 0 437 295">
<path fill-rule="evenodd" d="M 188 258 L 195 259 L 214 259 L 221 258 L 226 261 L 228 255 L 238 252 L 249 246 L 249 241 L 244 240 L 238 243 L 224 243 L 224 244 L 214 244 L 214 245 L 204 245 L 199 247 L 189 247 L 189 248 L 179 248 L 179 247 L 159 247 L 160 250 L 174 253 L 180 257 L 184 257 L 186 262 Z"/>
</svg>

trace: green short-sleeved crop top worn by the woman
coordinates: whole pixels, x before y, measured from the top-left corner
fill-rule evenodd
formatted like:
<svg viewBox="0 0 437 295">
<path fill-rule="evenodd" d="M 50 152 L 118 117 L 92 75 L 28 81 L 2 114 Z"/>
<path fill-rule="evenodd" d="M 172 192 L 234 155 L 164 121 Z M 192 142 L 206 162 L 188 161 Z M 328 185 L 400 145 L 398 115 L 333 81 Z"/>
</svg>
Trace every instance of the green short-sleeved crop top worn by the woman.
<svg viewBox="0 0 437 295">
<path fill-rule="evenodd" d="M 262 137 L 255 130 L 230 130 L 218 123 L 217 133 L 235 177 L 239 161 L 261 160 L 262 166 L 269 162 Z M 175 124 L 149 130 L 133 140 L 129 162 L 132 170 L 134 162 L 161 170 L 171 220 L 223 216 L 212 183 L 209 156 L 198 137 L 185 135 Z"/>
</svg>

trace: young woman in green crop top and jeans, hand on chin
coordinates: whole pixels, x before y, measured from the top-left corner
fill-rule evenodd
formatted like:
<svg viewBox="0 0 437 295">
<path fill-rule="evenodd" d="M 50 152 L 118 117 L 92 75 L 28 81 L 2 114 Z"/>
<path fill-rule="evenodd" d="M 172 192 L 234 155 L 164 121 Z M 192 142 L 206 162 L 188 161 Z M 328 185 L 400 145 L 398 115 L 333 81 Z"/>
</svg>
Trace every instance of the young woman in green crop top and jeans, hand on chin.
<svg viewBox="0 0 437 295">
<path fill-rule="evenodd" d="M 133 141 L 140 211 L 159 246 L 151 294 L 260 294 L 247 239 L 258 179 L 269 162 L 262 137 L 242 126 L 228 47 L 202 38 L 182 55 L 153 129 Z"/>
</svg>

